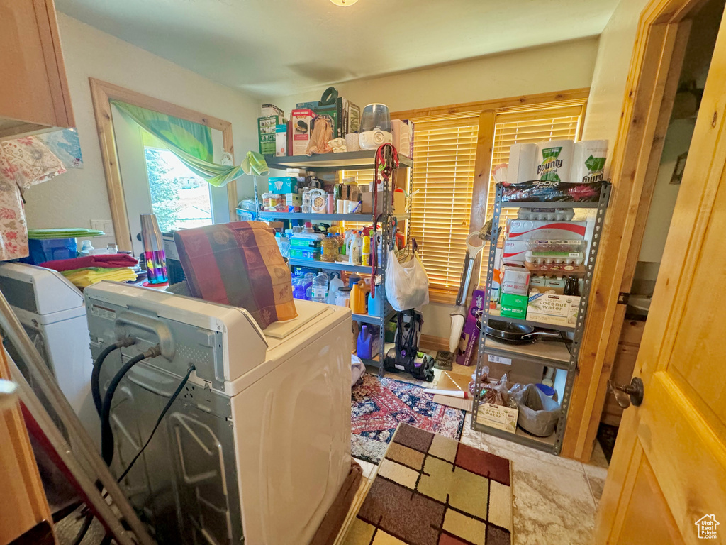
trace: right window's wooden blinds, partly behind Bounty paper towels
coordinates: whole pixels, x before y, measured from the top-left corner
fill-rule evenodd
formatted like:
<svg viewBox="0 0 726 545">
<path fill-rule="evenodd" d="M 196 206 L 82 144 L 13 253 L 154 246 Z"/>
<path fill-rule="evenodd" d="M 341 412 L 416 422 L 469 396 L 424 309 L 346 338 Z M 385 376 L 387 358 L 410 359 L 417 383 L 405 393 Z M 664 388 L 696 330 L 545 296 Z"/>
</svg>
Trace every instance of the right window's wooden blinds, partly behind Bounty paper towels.
<svg viewBox="0 0 726 545">
<path fill-rule="evenodd" d="M 494 146 L 492 170 L 501 163 L 509 162 L 509 148 L 515 143 L 541 142 L 542 140 L 579 140 L 584 114 L 584 101 L 576 104 L 538 105 L 498 112 L 494 121 Z M 497 182 L 489 177 L 486 199 L 486 219 L 494 213 L 494 193 Z M 517 209 L 502 209 L 499 225 L 507 218 L 517 217 Z M 502 238 L 499 238 L 501 243 Z M 489 245 L 484 248 L 481 262 L 480 283 L 486 283 L 486 262 Z"/>
</svg>

